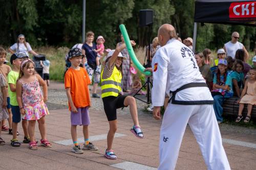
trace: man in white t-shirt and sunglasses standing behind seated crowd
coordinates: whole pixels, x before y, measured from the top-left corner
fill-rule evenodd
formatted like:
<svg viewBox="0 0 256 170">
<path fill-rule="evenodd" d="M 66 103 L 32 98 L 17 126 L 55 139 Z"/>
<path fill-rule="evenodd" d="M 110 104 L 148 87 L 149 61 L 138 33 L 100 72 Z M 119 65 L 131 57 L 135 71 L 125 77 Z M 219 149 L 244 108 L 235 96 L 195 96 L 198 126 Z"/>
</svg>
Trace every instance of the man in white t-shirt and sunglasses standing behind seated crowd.
<svg viewBox="0 0 256 170">
<path fill-rule="evenodd" d="M 244 47 L 244 45 L 238 41 L 239 39 L 239 33 L 238 32 L 233 32 L 231 35 L 231 41 L 228 41 L 227 43 L 224 44 L 224 50 L 227 53 L 227 56 L 231 56 L 234 59 L 234 56 L 236 55 L 237 50 L 243 49 L 245 52 L 245 61 L 248 59 L 249 54 Z"/>
</svg>

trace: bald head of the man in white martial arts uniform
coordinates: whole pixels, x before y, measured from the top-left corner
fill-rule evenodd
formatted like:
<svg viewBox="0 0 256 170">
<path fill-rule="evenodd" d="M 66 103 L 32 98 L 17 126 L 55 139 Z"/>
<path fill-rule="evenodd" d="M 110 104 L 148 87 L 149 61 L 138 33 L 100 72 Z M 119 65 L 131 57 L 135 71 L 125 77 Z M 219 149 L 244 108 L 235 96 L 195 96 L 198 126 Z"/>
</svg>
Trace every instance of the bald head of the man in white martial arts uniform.
<svg viewBox="0 0 256 170">
<path fill-rule="evenodd" d="M 158 29 L 158 41 L 161 46 L 172 38 L 177 38 L 175 28 L 172 25 L 165 23 Z"/>
</svg>

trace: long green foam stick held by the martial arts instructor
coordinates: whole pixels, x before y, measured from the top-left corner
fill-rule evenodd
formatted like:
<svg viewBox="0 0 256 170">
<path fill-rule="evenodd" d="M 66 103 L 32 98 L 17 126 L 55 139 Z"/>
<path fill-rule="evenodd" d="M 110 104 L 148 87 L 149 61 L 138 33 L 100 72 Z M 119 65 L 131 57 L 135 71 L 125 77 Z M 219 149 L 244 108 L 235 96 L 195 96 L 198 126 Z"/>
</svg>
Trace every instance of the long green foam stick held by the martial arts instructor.
<svg viewBox="0 0 256 170">
<path fill-rule="evenodd" d="M 125 42 L 125 44 L 126 44 L 126 48 L 127 48 L 127 50 L 128 50 L 128 53 L 129 53 L 129 55 L 130 55 L 130 57 L 131 57 L 131 59 L 132 59 L 134 65 L 136 66 L 136 68 L 137 68 L 140 72 L 142 72 L 144 75 L 146 75 L 146 76 L 152 76 L 152 72 L 151 72 L 151 71 L 144 71 L 145 67 L 143 67 L 143 65 L 141 65 L 141 63 L 140 63 L 139 60 L 137 59 L 137 57 L 136 57 L 136 55 L 135 55 L 135 53 L 134 53 L 134 51 L 133 51 L 133 47 L 132 47 L 132 44 L 131 44 L 131 42 L 130 42 L 130 38 L 129 38 L 129 36 L 128 36 L 128 33 L 127 33 L 126 29 L 125 29 L 125 26 L 124 26 L 123 24 L 121 24 L 121 25 L 119 26 L 119 28 L 120 28 L 121 33 L 122 33 L 122 35 L 123 35 L 123 39 L 124 39 L 124 42 Z"/>
</svg>

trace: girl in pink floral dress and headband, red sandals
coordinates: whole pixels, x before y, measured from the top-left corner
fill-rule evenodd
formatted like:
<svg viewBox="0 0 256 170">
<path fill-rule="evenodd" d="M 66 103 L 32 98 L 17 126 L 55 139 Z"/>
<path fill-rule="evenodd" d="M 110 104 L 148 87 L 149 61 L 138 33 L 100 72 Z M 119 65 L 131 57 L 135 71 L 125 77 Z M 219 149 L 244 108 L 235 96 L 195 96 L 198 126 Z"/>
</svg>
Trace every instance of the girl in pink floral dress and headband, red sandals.
<svg viewBox="0 0 256 170">
<path fill-rule="evenodd" d="M 44 102 L 47 101 L 47 84 L 36 74 L 34 62 L 30 59 L 24 60 L 20 64 L 19 79 L 16 84 L 17 102 L 25 120 L 28 120 L 28 132 L 30 136 L 29 148 L 37 150 L 35 141 L 35 123 L 41 134 L 41 144 L 50 148 L 52 144 L 46 139 L 45 115 L 49 114 Z M 41 93 L 40 85 L 43 88 L 44 96 Z"/>
</svg>

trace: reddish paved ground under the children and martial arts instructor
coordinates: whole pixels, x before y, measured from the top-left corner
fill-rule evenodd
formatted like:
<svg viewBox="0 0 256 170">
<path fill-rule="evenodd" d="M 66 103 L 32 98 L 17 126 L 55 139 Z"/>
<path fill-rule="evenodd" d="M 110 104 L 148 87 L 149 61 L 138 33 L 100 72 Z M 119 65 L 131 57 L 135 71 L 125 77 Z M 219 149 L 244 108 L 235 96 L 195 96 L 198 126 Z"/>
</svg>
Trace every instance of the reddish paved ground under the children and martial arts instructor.
<svg viewBox="0 0 256 170">
<path fill-rule="evenodd" d="M 71 139 L 70 115 L 63 83 L 51 82 L 48 99 L 50 115 L 46 117 L 47 138 L 53 143 L 53 147 L 39 147 L 39 150 L 32 151 L 28 149 L 28 144 L 23 143 L 21 147 L 13 148 L 10 145 L 12 136 L 2 131 L 6 145 L 0 146 L 0 169 L 157 169 L 161 122 L 153 119 L 150 113 L 143 112 L 146 106 L 144 103 L 137 100 L 140 125 L 145 138 L 136 138 L 130 132 L 133 124 L 129 108 L 119 109 L 117 133 L 122 135 L 116 137 L 113 144 L 118 159 L 108 160 L 103 157 L 106 139 L 102 136 L 108 133 L 108 122 L 101 99 L 92 98 L 93 106 L 90 108 L 90 136 L 94 138 L 93 143 L 99 150 L 84 151 L 82 155 L 72 153 L 72 145 L 59 144 L 63 140 Z M 238 143 L 251 143 L 247 147 L 223 143 L 231 169 L 255 169 L 256 149 L 253 146 L 256 144 L 256 130 L 226 124 L 222 124 L 220 130 L 225 141 L 232 139 Z M 18 139 L 22 140 L 24 135 L 21 125 L 18 125 L 18 131 Z M 81 127 L 77 128 L 77 132 L 78 137 L 82 137 Z M 97 140 L 99 136 L 101 138 Z M 35 137 L 40 139 L 37 126 Z M 184 134 L 176 169 L 206 169 L 189 127 Z"/>
</svg>

